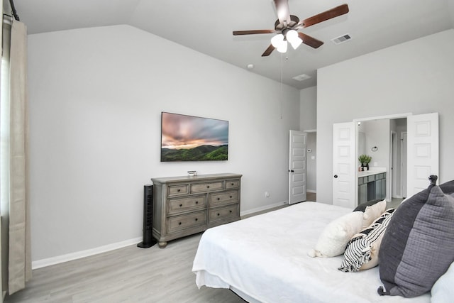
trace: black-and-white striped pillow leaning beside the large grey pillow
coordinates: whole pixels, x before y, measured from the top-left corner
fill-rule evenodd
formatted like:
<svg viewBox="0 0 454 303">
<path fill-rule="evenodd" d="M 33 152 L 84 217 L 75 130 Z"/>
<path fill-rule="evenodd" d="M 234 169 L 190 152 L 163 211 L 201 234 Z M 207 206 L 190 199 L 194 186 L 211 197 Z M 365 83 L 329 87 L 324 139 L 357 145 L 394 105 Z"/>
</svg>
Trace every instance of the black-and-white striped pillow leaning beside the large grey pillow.
<svg viewBox="0 0 454 303">
<path fill-rule="evenodd" d="M 362 229 L 351 238 L 347 248 L 345 248 L 339 270 L 355 272 L 367 270 L 378 265 L 378 251 L 392 214 L 394 214 L 394 209 L 384 211 L 370 226 Z"/>
</svg>

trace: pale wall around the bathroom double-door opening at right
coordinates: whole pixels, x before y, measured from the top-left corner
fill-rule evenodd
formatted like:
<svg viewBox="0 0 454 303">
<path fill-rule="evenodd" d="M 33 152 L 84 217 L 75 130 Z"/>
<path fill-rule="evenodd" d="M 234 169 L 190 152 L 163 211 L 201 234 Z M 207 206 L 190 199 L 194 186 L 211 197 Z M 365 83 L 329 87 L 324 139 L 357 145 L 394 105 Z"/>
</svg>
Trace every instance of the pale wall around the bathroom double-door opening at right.
<svg viewBox="0 0 454 303">
<path fill-rule="evenodd" d="M 451 29 L 318 70 L 317 201 L 332 203 L 333 123 L 359 118 L 438 112 L 439 181 L 453 180 L 453 66 Z"/>
</svg>

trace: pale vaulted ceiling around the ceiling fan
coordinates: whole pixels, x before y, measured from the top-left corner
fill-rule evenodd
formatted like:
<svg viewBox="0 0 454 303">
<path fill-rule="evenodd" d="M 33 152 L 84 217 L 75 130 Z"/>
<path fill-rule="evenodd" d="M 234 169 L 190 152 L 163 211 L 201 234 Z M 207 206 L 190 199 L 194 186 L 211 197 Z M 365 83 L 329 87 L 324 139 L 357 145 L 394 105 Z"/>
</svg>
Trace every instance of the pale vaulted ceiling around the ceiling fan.
<svg viewBox="0 0 454 303">
<path fill-rule="evenodd" d="M 316 85 L 316 70 L 352 57 L 454 27 L 454 0 L 289 0 L 301 20 L 348 4 L 349 13 L 299 31 L 324 42 L 261 57 L 273 34 L 272 0 L 14 0 L 29 34 L 128 24 L 297 89 Z M 8 11 L 6 11 L 8 13 Z M 348 34 L 351 39 L 331 41 Z M 293 77 L 308 75 L 297 81 Z"/>
</svg>

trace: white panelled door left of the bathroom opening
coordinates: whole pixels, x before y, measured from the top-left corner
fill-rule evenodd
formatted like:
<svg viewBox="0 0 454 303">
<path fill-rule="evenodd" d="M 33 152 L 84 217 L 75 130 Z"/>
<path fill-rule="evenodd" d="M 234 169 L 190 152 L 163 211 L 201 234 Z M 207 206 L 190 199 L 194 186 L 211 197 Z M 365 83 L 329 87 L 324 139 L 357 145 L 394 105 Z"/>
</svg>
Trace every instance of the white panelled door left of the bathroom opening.
<svg viewBox="0 0 454 303">
<path fill-rule="evenodd" d="M 356 188 L 355 124 L 333 124 L 333 204 L 354 208 Z"/>
</svg>

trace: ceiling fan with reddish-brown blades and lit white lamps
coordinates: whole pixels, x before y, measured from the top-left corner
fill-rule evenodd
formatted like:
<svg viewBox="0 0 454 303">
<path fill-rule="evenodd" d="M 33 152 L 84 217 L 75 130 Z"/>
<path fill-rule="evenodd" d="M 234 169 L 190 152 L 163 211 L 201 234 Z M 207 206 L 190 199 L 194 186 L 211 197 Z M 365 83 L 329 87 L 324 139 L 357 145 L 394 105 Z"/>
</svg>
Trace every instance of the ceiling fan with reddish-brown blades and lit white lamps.
<svg viewBox="0 0 454 303">
<path fill-rule="evenodd" d="M 315 16 L 299 21 L 299 18 L 294 15 L 290 15 L 289 12 L 289 2 L 288 0 L 274 0 L 276 11 L 277 11 L 277 21 L 275 22 L 274 30 L 255 30 L 255 31 L 233 31 L 233 35 L 253 35 L 258 33 L 277 33 L 273 38 L 271 38 L 271 45 L 262 53 L 262 57 L 269 56 L 273 50 L 277 49 L 280 53 L 287 52 L 287 41 L 292 45 L 292 48 L 295 50 L 304 43 L 311 46 L 312 48 L 319 48 L 323 45 L 323 41 L 317 40 L 316 38 L 306 35 L 305 33 L 300 33 L 298 30 L 300 28 L 306 28 L 308 26 L 313 26 L 316 23 L 326 21 L 337 16 L 341 16 L 345 13 L 348 13 L 348 5 L 343 4 L 341 6 L 336 6 L 333 9 L 324 11 Z"/>
</svg>

